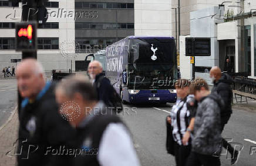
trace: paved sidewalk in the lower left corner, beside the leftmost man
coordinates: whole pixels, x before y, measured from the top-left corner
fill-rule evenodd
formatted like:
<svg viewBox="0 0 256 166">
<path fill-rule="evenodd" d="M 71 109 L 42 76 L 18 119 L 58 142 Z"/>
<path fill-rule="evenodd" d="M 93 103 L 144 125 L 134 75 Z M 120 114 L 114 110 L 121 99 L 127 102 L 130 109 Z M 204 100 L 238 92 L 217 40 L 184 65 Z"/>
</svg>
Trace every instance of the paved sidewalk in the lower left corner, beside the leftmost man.
<svg viewBox="0 0 256 166">
<path fill-rule="evenodd" d="M 0 129 L 0 166 L 16 165 L 14 143 L 18 136 L 18 110 L 15 109 L 7 122 Z M 8 155 L 8 151 L 11 151 Z"/>
</svg>

